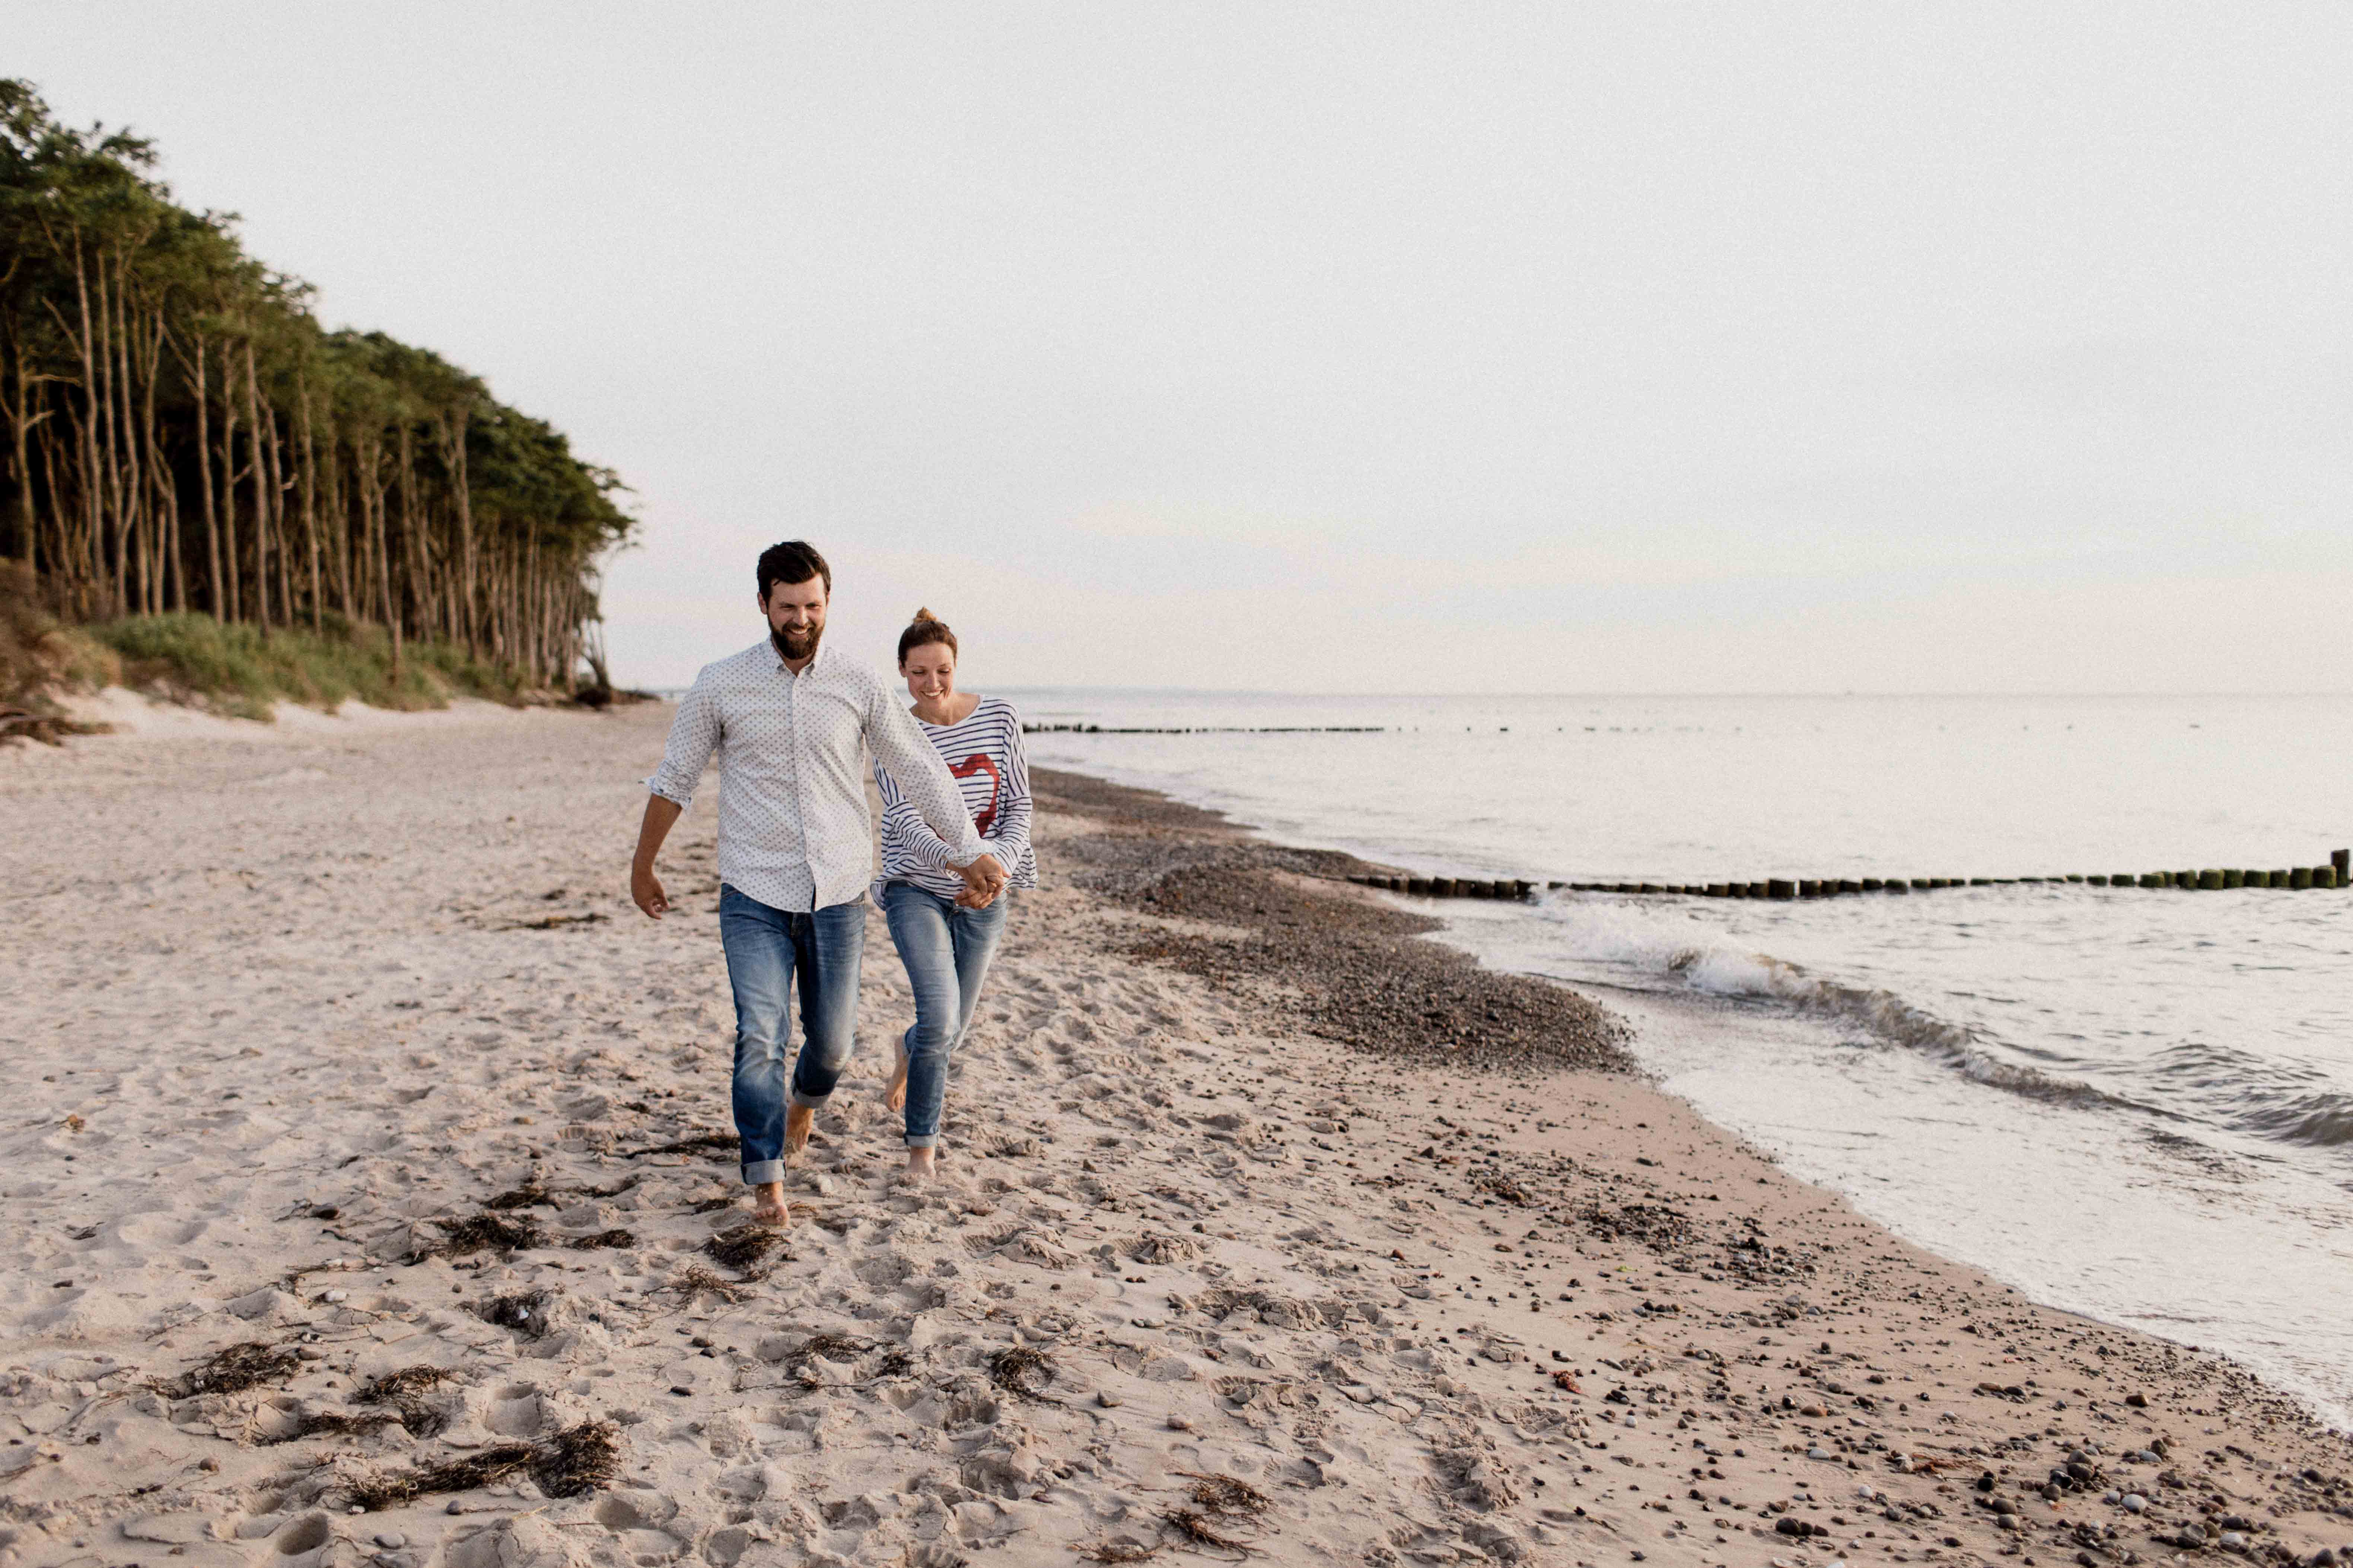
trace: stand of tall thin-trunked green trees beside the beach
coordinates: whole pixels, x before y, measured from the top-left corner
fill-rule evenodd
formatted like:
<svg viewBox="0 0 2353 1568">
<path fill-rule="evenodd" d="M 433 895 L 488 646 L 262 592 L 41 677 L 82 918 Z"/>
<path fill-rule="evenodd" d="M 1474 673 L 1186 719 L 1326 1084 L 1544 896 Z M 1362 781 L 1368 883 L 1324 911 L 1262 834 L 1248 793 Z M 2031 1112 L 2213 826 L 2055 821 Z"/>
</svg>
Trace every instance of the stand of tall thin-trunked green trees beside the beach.
<svg viewBox="0 0 2353 1568">
<path fill-rule="evenodd" d="M 595 658 L 633 520 L 546 421 L 188 212 L 127 132 L 0 78 L 0 559 L 71 616 L 374 623 L 534 682 Z"/>
</svg>

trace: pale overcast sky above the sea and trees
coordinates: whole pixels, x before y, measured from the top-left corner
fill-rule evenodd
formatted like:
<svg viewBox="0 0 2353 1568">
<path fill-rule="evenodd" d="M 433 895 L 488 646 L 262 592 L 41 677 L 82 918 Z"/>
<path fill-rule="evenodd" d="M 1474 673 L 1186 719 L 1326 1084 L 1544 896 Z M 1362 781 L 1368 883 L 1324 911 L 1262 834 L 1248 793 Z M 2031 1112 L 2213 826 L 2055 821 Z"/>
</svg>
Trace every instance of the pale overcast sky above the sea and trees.
<svg viewBox="0 0 2353 1568">
<path fill-rule="evenodd" d="M 638 491 L 614 675 L 2353 679 L 2353 7 L 28 5 Z"/>
</svg>

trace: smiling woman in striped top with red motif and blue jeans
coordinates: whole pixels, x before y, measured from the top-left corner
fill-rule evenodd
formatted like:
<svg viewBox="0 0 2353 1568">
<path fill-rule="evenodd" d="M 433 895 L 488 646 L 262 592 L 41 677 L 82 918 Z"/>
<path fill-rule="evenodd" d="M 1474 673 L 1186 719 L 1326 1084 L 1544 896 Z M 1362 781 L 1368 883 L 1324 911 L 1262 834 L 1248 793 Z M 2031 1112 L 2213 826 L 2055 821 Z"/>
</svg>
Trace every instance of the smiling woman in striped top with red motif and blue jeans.
<svg viewBox="0 0 2353 1568">
<path fill-rule="evenodd" d="M 988 846 L 981 860 L 995 858 L 1009 889 L 1038 886 L 1021 715 L 1002 698 L 955 689 L 955 632 L 927 609 L 918 609 L 899 632 L 899 675 L 915 698 L 915 722 L 955 776 L 972 827 Z M 882 792 L 875 903 L 915 990 L 915 1027 L 899 1039 L 899 1070 L 882 1103 L 906 1110 L 906 1173 L 927 1180 L 948 1095 L 948 1053 L 981 1001 L 981 980 L 1005 936 L 1012 898 L 991 896 L 981 860 L 962 872 L 948 865 L 948 844 L 925 825 L 880 762 L 875 788 Z"/>
</svg>

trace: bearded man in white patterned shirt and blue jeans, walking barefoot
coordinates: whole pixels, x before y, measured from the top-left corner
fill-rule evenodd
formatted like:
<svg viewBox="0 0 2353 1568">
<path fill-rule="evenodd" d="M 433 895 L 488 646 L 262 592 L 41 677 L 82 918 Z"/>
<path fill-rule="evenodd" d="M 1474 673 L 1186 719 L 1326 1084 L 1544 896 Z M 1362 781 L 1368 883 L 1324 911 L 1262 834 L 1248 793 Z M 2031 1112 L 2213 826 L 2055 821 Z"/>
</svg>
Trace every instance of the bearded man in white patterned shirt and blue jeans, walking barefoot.
<svg viewBox="0 0 2353 1568">
<path fill-rule="evenodd" d="M 988 903 L 1007 872 L 981 849 L 948 766 L 882 679 L 824 646 L 833 569 L 802 541 L 760 555 L 767 639 L 704 665 L 678 703 L 661 766 L 647 778 L 628 893 L 652 919 L 671 907 L 654 856 L 720 757 L 720 945 L 736 1004 L 734 1124 L 753 1218 L 786 1225 L 784 1168 L 800 1164 L 816 1107 L 856 1044 L 866 950 L 866 748 L 922 820 L 955 849 L 951 867 Z M 784 1095 L 788 1009 L 800 985 L 800 1056 Z"/>
</svg>

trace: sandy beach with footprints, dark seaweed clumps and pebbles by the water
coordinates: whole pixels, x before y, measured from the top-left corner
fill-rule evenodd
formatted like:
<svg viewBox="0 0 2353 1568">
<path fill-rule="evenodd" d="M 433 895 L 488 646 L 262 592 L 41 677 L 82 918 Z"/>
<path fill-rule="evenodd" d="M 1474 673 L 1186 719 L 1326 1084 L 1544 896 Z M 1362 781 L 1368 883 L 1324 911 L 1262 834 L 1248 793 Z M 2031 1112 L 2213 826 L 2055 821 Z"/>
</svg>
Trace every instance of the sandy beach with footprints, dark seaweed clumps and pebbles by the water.
<svg viewBox="0 0 2353 1568">
<path fill-rule="evenodd" d="M 741 1222 L 668 708 L 0 748 L 0 1563 L 2334 1563 L 2341 1436 L 1626 1067 L 1607 1009 L 1040 773 L 944 1180 Z"/>
</svg>

